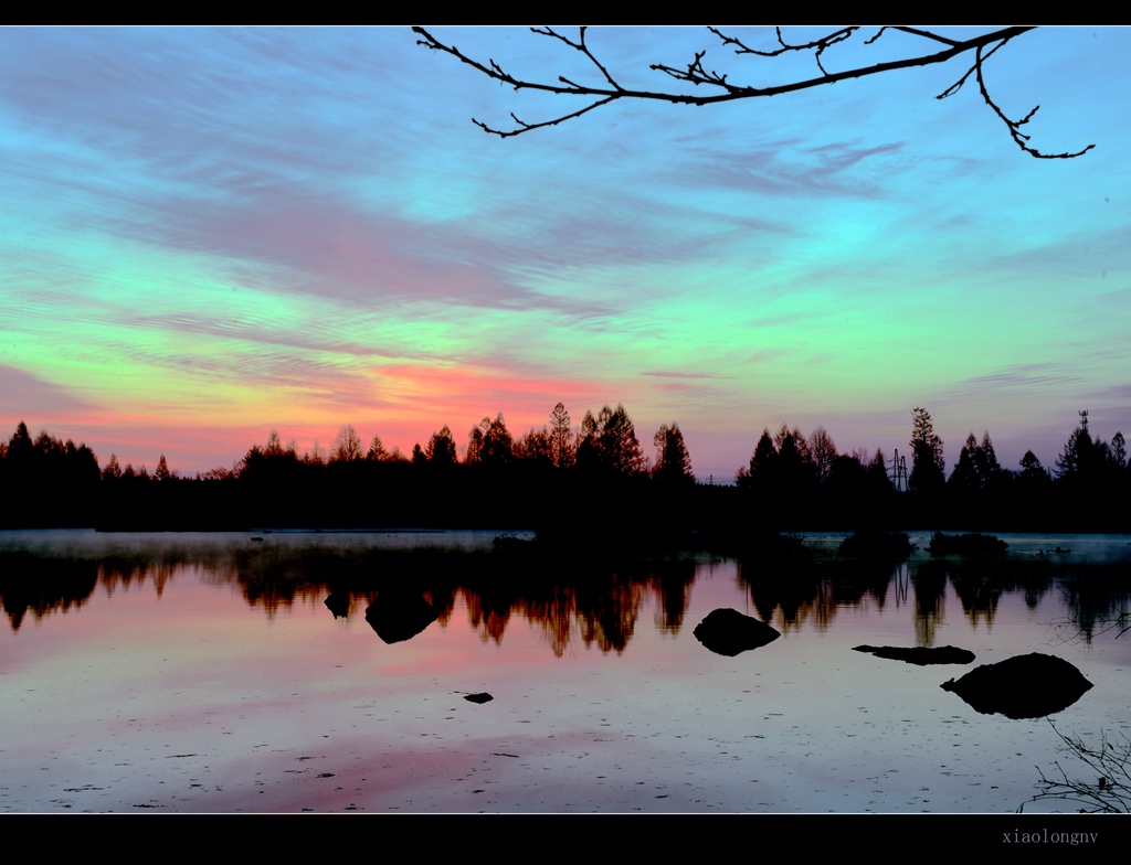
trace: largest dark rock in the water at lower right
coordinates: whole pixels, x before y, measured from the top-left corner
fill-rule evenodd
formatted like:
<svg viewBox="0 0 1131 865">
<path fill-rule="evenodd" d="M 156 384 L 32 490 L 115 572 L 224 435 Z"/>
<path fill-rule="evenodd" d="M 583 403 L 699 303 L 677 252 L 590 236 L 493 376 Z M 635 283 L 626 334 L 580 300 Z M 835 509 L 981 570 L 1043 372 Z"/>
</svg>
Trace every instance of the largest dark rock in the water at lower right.
<svg viewBox="0 0 1131 865">
<path fill-rule="evenodd" d="M 1063 658 L 1033 653 L 984 664 L 941 687 L 983 715 L 1042 718 L 1067 709 L 1091 688 L 1091 682 Z"/>
</svg>

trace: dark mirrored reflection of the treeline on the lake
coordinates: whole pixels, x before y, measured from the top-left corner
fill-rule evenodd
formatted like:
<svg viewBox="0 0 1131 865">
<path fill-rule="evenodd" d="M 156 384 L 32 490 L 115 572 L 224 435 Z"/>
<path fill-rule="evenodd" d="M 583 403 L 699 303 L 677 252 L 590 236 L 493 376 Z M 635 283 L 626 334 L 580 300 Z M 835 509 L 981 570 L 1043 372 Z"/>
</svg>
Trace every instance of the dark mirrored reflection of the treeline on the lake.
<svg viewBox="0 0 1131 865">
<path fill-rule="evenodd" d="M 560 657 L 572 640 L 623 653 L 646 600 L 656 602 L 654 627 L 679 634 L 696 576 L 711 568 L 713 562 L 690 557 L 618 560 L 563 556 L 561 550 L 539 554 L 535 544 L 516 551 L 328 542 L 323 536 L 197 543 L 157 536 L 132 545 L 71 543 L 61 549 L 9 542 L 0 550 L 0 605 L 11 629 L 19 630 L 28 613 L 41 620 L 81 608 L 97 586 L 112 595 L 119 587 L 149 584 L 159 597 L 170 579 L 191 571 L 216 586 L 236 586 L 249 606 L 268 617 L 314 598 L 335 619 L 365 610 L 387 643 L 408 639 L 432 621 L 446 627 L 459 600 L 482 640 L 501 645 L 518 619 L 541 629 Z M 969 623 L 987 629 L 1003 594 L 1020 593 L 1036 609 L 1050 592 L 1060 592 L 1069 617 L 1062 623 L 1065 639 L 1089 640 L 1097 628 L 1119 622 L 1131 603 L 1128 565 L 1117 558 L 1029 557 L 992 563 L 921 558 L 895 566 L 828 558 L 739 560 L 737 574 L 753 612 L 784 634 L 803 627 L 823 631 L 838 611 L 882 611 L 893 601 L 910 605 L 921 647 L 935 645 L 948 586 Z"/>
</svg>

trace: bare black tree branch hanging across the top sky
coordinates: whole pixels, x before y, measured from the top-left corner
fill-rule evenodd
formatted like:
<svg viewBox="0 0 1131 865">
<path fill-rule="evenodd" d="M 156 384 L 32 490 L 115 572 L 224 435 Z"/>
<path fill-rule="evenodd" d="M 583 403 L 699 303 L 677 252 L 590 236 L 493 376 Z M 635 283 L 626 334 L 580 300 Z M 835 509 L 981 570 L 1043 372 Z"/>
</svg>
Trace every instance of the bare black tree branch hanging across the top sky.
<svg viewBox="0 0 1131 865">
<path fill-rule="evenodd" d="M 416 44 L 422 45 L 431 51 L 442 51 L 447 54 L 451 54 L 454 58 L 459 60 L 459 62 L 472 67 L 480 73 L 491 78 L 501 84 L 510 85 L 516 90 L 541 90 L 543 93 L 552 93 L 561 96 L 581 96 L 593 99 L 584 108 L 575 112 L 562 114 L 552 120 L 541 121 L 537 123 L 526 123 L 518 120 L 511 114 L 516 126 L 510 130 L 495 129 L 494 126 L 487 125 L 483 121 L 472 119 L 475 125 L 480 126 L 484 132 L 489 132 L 493 136 L 499 136 L 500 138 L 510 138 L 512 136 L 519 136 L 524 132 L 530 132 L 535 129 L 542 129 L 543 126 L 554 126 L 567 120 L 572 120 L 573 117 L 579 117 L 594 108 L 599 108 L 603 105 L 607 105 L 612 102 L 620 99 L 644 99 L 653 102 L 666 102 L 675 105 L 715 105 L 724 102 L 732 102 L 734 99 L 751 99 L 762 96 L 777 96 L 786 93 L 795 93 L 797 90 L 808 90 L 813 87 L 821 87 L 824 85 L 836 84 L 837 81 L 846 81 L 853 78 L 865 78 L 867 76 L 880 75 L 883 72 L 891 72 L 897 69 L 914 69 L 916 67 L 931 65 L 933 63 L 946 63 L 947 61 L 956 58 L 960 54 L 966 54 L 968 52 L 974 52 L 974 64 L 966 71 L 966 73 L 959 78 L 955 84 L 948 87 L 943 93 L 939 94 L 936 98 L 943 99 L 948 96 L 952 96 L 961 89 L 966 80 L 973 75 L 977 79 L 978 89 L 982 94 L 982 99 L 987 106 L 1001 119 L 1009 130 L 1010 136 L 1013 141 L 1017 142 L 1018 147 L 1022 151 L 1034 156 L 1038 159 L 1072 159 L 1078 156 L 1082 156 L 1088 152 L 1095 145 L 1088 145 L 1082 150 L 1076 152 L 1059 152 L 1059 154 L 1045 154 L 1037 150 L 1035 147 L 1029 145 L 1029 136 L 1021 131 L 1021 126 L 1028 123 L 1034 114 L 1036 114 L 1037 108 L 1030 111 L 1021 120 L 1011 120 L 1001 110 L 996 102 L 990 96 L 990 91 L 986 88 L 985 78 L 983 76 L 983 65 L 986 60 L 988 60 L 993 54 L 1004 45 L 1007 45 L 1011 40 L 1021 36 L 1033 27 L 1004 27 L 1002 29 L 993 30 L 990 33 L 984 33 L 978 36 L 974 36 L 969 40 L 952 40 L 950 37 L 943 36 L 931 30 L 925 30 L 916 27 L 903 27 L 903 26 L 884 26 L 880 27 L 878 32 L 869 40 L 864 42 L 865 45 L 873 44 L 880 36 L 883 35 L 886 30 L 892 29 L 900 33 L 907 34 L 909 36 L 917 36 L 927 42 L 938 43 L 944 45 L 940 51 L 933 53 L 917 54 L 914 56 L 905 58 L 903 60 L 887 61 L 882 63 L 874 63 L 872 65 L 857 67 L 855 69 L 847 69 L 839 72 L 829 72 L 823 63 L 824 52 L 832 47 L 834 45 L 845 42 L 851 38 L 858 29 L 858 26 L 844 27 L 834 33 L 829 33 L 820 38 L 812 40 L 810 42 L 793 44 L 786 42 L 785 37 L 782 35 L 780 27 L 776 28 L 778 47 L 770 50 L 753 49 L 741 40 L 728 36 L 715 27 L 708 27 L 708 30 L 717 36 L 724 47 L 734 47 L 735 54 L 749 54 L 760 58 L 778 58 L 783 54 L 791 52 L 810 52 L 813 55 L 813 60 L 817 63 L 817 68 L 820 75 L 813 78 L 805 78 L 797 81 L 789 81 L 782 85 L 774 85 L 769 87 L 754 87 L 751 85 L 737 85 L 727 80 L 727 75 L 720 75 L 713 69 L 708 69 L 703 65 L 703 58 L 707 51 L 697 51 L 690 63 L 685 67 L 674 67 L 665 63 L 654 63 L 649 67 L 653 71 L 662 72 L 663 75 L 672 78 L 676 81 L 683 84 L 692 85 L 696 88 L 700 86 L 708 89 L 715 90 L 714 93 L 707 93 L 702 95 L 693 95 L 688 93 L 676 93 L 670 90 L 633 90 L 622 87 L 616 78 L 608 71 L 604 63 L 602 63 L 596 55 L 589 50 L 586 44 L 586 27 L 579 28 L 577 41 L 563 36 L 556 30 L 550 27 L 532 27 L 530 30 L 539 36 L 546 36 L 547 38 L 556 40 L 569 47 L 578 51 L 593 63 L 594 67 L 599 71 L 602 78 L 604 79 L 599 85 L 584 85 L 563 76 L 559 76 L 556 80 L 527 80 L 523 78 L 515 78 L 510 73 L 503 71 L 502 67 L 499 65 L 494 60 L 489 59 L 484 64 L 473 58 L 464 54 L 455 45 L 448 45 L 440 42 L 431 33 L 425 30 L 423 27 L 413 27 L 413 32 L 420 36 Z M 1037 106 L 1039 107 L 1039 106 Z"/>
</svg>

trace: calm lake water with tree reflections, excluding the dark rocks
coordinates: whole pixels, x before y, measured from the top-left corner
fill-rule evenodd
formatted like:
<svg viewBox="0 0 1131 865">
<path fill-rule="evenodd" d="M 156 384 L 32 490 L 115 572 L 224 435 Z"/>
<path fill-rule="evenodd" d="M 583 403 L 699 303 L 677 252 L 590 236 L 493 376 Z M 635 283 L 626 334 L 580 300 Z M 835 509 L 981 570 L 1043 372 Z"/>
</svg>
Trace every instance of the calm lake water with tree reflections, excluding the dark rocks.
<svg viewBox="0 0 1131 865">
<path fill-rule="evenodd" d="M 1033 652 L 1094 685 L 1057 729 L 1131 733 L 1131 636 L 1103 630 L 1126 535 L 831 568 L 546 561 L 497 534 L 0 533 L 0 810 L 1012 812 L 1074 758 L 1047 719 L 940 684 Z M 438 618 L 387 643 L 374 597 Z M 709 652 L 692 630 L 718 608 L 782 637 Z"/>
</svg>

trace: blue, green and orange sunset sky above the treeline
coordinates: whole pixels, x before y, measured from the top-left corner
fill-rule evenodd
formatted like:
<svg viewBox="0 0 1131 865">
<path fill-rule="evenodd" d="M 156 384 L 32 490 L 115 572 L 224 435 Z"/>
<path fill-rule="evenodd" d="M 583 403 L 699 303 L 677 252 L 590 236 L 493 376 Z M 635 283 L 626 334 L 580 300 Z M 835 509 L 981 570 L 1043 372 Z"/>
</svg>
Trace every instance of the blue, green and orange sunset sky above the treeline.
<svg viewBox="0 0 1131 865">
<path fill-rule="evenodd" d="M 875 28 L 835 71 L 933 50 Z M 508 72 L 598 84 L 525 28 L 435 28 Z M 562 33 L 576 36 L 576 30 Z M 735 29 L 774 45 L 772 29 Z M 952 36 L 974 30 L 949 29 Z M 814 32 L 786 30 L 791 40 Z M 808 78 L 706 28 L 590 29 L 627 88 L 650 63 Z M 277 429 L 351 423 L 408 453 L 502 412 L 623 403 L 646 453 L 683 430 L 733 480 L 763 428 L 907 453 L 924 407 L 948 471 L 988 430 L 1051 466 L 1088 409 L 1131 435 L 1131 29 L 1048 28 L 969 68 L 772 98 L 576 111 L 408 28 L 0 29 L 0 435 L 105 464 L 231 468 Z M 687 86 L 684 86 L 685 88 Z"/>
</svg>

